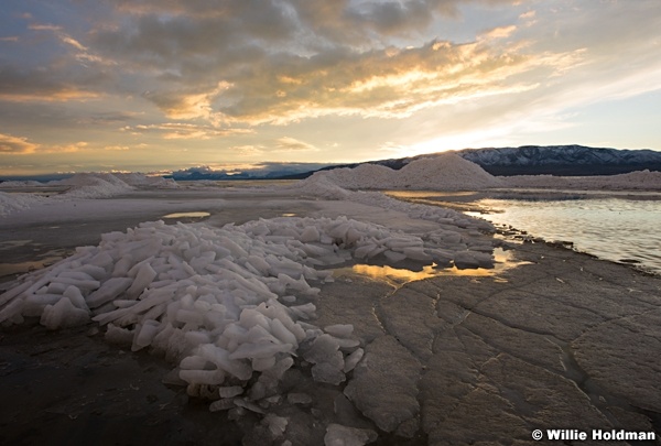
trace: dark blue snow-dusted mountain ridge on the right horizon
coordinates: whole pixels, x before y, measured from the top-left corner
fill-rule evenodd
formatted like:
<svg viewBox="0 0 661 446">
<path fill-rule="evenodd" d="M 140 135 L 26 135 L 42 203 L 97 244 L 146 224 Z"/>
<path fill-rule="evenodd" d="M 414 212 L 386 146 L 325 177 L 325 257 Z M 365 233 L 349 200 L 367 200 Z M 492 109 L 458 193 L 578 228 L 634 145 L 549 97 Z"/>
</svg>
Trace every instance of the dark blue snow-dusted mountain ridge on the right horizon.
<svg viewBox="0 0 661 446">
<path fill-rule="evenodd" d="M 494 175 L 605 175 L 632 171 L 661 171 L 661 152 L 596 149 L 584 145 L 523 145 L 465 149 L 462 157 Z"/>
</svg>

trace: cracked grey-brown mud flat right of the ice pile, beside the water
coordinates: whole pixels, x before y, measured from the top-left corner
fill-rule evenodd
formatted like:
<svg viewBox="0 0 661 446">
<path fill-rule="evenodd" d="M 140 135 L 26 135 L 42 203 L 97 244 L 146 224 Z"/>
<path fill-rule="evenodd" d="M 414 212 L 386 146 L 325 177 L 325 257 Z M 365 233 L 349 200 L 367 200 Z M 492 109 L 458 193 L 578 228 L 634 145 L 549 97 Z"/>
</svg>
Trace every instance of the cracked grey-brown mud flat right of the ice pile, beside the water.
<svg viewBox="0 0 661 446">
<path fill-rule="evenodd" d="M 353 295 L 362 336 L 404 347 L 416 383 L 409 391 L 400 383 L 399 391 L 415 394 L 419 412 L 407 418 L 415 404 L 400 404 L 399 415 L 420 422 L 426 438 L 419 444 L 530 444 L 535 428 L 659 438 L 661 280 L 545 243 L 516 253 L 533 264 L 500 280 L 410 282 L 387 297 L 356 293 L 355 278 L 339 279 L 319 314 L 324 324 L 345 318 L 339 300 Z M 382 395 L 375 405 L 388 404 L 388 381 L 378 370 L 370 378 L 361 391 Z"/>
</svg>

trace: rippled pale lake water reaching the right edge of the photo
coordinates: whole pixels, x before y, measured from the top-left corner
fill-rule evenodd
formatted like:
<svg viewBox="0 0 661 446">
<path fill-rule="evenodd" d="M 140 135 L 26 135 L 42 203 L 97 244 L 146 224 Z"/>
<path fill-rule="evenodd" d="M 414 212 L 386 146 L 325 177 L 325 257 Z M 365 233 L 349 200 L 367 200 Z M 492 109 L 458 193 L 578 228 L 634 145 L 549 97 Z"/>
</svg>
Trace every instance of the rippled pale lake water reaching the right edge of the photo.
<svg viewBox="0 0 661 446">
<path fill-rule="evenodd" d="M 476 204 L 489 211 L 467 214 L 548 241 L 572 241 L 578 251 L 661 274 L 661 199 L 486 198 Z"/>
</svg>

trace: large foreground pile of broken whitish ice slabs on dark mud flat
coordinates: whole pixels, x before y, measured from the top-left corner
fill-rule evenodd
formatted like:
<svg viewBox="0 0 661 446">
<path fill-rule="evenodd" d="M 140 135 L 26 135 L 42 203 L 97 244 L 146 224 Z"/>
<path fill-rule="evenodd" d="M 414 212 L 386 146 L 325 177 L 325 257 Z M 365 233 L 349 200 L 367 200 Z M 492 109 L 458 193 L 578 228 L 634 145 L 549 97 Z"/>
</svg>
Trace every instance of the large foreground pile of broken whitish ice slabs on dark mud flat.
<svg viewBox="0 0 661 446">
<path fill-rule="evenodd" d="M 489 266 L 490 248 L 468 247 L 448 229 L 423 240 L 346 217 L 223 228 L 145 222 L 20 278 L 0 295 L 0 323 L 98 323 L 109 341 L 165 355 L 212 411 L 267 413 L 297 361 L 315 381 L 337 385 L 362 358 L 351 325 L 312 324 L 319 289 L 311 283 L 332 281 L 328 266 L 379 258 L 446 264 L 466 252 Z M 270 428 L 283 423 L 268 420 Z"/>
</svg>

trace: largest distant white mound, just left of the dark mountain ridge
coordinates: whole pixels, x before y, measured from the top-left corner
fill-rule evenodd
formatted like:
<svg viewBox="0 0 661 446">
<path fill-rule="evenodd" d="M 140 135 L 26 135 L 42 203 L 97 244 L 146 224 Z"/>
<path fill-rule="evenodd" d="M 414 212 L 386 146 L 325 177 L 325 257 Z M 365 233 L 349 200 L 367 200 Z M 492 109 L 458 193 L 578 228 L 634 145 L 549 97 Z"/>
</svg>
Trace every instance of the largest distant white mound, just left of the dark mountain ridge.
<svg viewBox="0 0 661 446">
<path fill-rule="evenodd" d="M 399 171 L 373 164 L 322 171 L 303 183 L 314 187 L 324 181 L 346 189 L 477 191 L 502 186 L 499 178 L 455 153 L 415 160 Z"/>
</svg>

